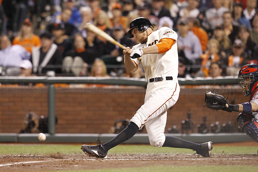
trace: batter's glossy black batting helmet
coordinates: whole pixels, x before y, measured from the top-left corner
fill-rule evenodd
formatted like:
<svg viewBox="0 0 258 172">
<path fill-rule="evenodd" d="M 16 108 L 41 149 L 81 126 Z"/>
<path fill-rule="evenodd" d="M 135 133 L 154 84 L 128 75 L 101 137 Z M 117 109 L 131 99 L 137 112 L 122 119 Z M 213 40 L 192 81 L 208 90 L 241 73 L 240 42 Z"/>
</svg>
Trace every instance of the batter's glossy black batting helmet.
<svg viewBox="0 0 258 172">
<path fill-rule="evenodd" d="M 132 30 L 135 27 L 137 27 L 137 30 L 139 30 L 141 32 L 144 32 L 150 26 L 152 26 L 152 28 L 153 28 L 153 25 L 151 24 L 151 22 L 147 18 L 145 18 L 145 17 L 138 17 L 138 18 L 134 19 L 133 21 L 131 21 L 131 23 L 129 24 L 129 29 L 130 30 L 128 30 L 127 36 L 129 38 L 133 38 Z"/>
</svg>

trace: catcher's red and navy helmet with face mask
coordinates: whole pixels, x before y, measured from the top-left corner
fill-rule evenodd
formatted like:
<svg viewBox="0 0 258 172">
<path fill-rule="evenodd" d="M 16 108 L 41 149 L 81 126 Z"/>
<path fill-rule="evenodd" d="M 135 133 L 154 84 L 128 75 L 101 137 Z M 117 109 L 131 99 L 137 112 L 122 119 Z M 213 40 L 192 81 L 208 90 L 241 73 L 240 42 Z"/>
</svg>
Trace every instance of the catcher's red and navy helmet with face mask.
<svg viewBox="0 0 258 172">
<path fill-rule="evenodd" d="M 258 64 L 254 63 L 243 66 L 238 73 L 238 78 L 241 78 L 239 85 L 245 96 L 250 95 L 258 83 Z"/>
</svg>

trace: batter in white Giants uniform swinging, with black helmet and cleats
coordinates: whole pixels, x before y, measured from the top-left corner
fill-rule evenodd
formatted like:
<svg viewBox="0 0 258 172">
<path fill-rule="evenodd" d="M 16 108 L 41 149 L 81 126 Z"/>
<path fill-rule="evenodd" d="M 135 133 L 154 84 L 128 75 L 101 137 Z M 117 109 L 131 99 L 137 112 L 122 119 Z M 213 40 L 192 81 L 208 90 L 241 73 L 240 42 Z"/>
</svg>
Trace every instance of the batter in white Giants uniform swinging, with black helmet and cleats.
<svg viewBox="0 0 258 172">
<path fill-rule="evenodd" d="M 167 109 L 176 103 L 180 92 L 176 32 L 167 27 L 154 31 L 151 22 L 140 17 L 130 23 L 127 36 L 140 42 L 132 49 L 127 47 L 123 53 L 129 70 L 136 71 L 140 64 L 144 68 L 148 83 L 144 104 L 114 139 L 104 144 L 97 140 L 98 145 L 82 145 L 81 149 L 89 156 L 106 158 L 109 149 L 130 139 L 145 125 L 152 146 L 187 148 L 203 157 L 210 157 L 212 142 L 197 144 L 164 134 Z"/>
</svg>

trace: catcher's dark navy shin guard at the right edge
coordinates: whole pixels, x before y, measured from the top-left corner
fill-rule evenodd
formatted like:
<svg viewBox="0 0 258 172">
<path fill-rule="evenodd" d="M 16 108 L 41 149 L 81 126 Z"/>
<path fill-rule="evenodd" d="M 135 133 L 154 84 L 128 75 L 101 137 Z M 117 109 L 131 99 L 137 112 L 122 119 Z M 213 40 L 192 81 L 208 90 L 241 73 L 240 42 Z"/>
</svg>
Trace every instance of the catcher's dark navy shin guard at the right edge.
<svg viewBox="0 0 258 172">
<path fill-rule="evenodd" d="M 237 121 L 241 130 L 258 142 L 258 121 L 246 113 L 240 113 L 237 116 Z"/>
</svg>

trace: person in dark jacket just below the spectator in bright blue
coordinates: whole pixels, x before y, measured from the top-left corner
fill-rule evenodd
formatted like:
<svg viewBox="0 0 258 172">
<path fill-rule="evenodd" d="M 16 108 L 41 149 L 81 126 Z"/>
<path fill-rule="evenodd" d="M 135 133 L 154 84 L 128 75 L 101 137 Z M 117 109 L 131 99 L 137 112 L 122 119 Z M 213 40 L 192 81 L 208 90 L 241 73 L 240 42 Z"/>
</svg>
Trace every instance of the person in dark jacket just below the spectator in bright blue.
<svg viewBox="0 0 258 172">
<path fill-rule="evenodd" d="M 71 18 L 71 14 L 72 14 L 72 10 L 70 8 L 64 8 L 61 14 L 58 15 L 54 21 L 54 23 L 61 23 L 65 25 L 65 34 L 64 34 L 65 38 L 74 36 L 74 34 L 78 32 L 78 29 L 74 25 L 68 23 L 68 21 Z M 51 32 L 54 23 L 48 24 L 46 30 Z"/>
</svg>

